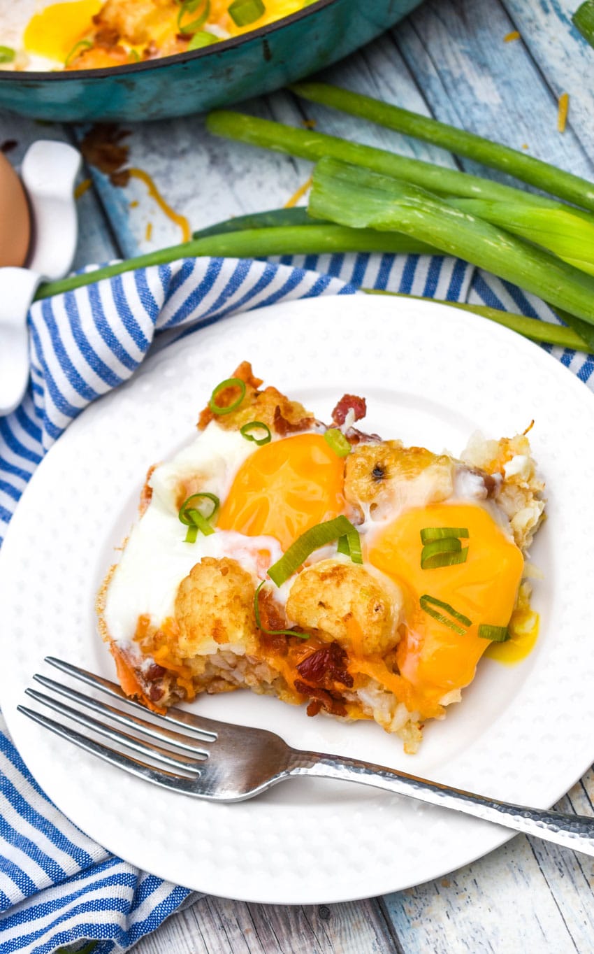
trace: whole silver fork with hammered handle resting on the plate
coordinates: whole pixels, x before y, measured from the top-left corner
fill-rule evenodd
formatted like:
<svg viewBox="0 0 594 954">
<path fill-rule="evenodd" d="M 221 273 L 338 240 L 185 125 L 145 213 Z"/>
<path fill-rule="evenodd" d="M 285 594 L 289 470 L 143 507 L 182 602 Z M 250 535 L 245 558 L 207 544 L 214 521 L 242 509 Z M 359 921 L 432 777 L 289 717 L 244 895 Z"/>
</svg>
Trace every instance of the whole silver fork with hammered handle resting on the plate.
<svg viewBox="0 0 594 954">
<path fill-rule="evenodd" d="M 139 757 L 125 755 L 26 706 L 18 706 L 18 710 L 92 755 L 162 788 L 211 801 L 242 801 L 265 792 L 285 778 L 338 778 L 495 821 L 525 835 L 554 841 L 594 856 L 594 818 L 483 798 L 357 758 L 292 749 L 272 732 L 218 722 L 181 709 L 169 709 L 164 716 L 149 713 L 145 706 L 129 699 L 109 679 L 53 656 L 47 656 L 46 662 L 92 689 L 139 710 L 144 717 L 79 693 L 45 675 L 36 674 L 34 679 L 53 693 L 91 710 L 99 718 L 37 690 L 27 689 L 27 694 L 60 716 L 68 716 Z M 111 727 L 106 720 L 121 728 Z"/>
</svg>

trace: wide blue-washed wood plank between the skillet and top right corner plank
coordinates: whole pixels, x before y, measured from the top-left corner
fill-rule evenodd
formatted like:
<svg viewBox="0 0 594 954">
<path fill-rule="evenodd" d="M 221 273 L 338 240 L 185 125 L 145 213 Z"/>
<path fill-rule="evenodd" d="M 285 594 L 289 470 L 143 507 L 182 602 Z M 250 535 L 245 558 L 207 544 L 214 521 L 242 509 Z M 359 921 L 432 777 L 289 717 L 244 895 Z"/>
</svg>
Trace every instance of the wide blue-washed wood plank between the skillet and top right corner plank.
<svg viewBox="0 0 594 954">
<path fill-rule="evenodd" d="M 504 42 L 512 30 L 500 0 L 426 0 L 392 35 L 438 119 L 515 149 L 527 145 L 531 156 L 594 178 L 592 158 L 574 131 L 583 137 L 591 120 L 574 116 L 572 127 L 557 132 L 556 95 L 526 47 Z M 462 165 L 484 175 L 474 163 Z"/>
</svg>

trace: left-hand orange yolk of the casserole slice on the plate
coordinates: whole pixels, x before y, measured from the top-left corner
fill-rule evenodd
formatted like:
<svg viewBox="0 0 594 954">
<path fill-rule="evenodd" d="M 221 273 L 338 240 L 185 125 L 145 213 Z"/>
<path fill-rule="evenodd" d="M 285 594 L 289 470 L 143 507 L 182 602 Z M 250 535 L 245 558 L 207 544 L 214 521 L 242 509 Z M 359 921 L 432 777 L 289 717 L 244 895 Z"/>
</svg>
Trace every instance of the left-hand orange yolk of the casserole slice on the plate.
<svg viewBox="0 0 594 954">
<path fill-rule="evenodd" d="M 287 550 L 305 530 L 343 511 L 343 474 L 344 460 L 321 434 L 265 444 L 239 467 L 216 525 L 276 537 Z"/>
</svg>

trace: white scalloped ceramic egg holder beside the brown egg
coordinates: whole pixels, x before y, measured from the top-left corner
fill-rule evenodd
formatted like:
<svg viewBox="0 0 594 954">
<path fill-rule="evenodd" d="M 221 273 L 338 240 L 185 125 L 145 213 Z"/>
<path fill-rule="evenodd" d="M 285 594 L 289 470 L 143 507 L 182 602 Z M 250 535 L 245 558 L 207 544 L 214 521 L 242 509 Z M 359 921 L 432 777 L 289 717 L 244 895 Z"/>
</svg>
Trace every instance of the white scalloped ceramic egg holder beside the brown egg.
<svg viewBox="0 0 594 954">
<path fill-rule="evenodd" d="M 27 267 L 0 268 L 0 417 L 20 404 L 27 389 L 27 315 L 37 286 L 63 278 L 72 266 L 78 235 L 73 190 L 80 163 L 72 146 L 46 139 L 34 142 L 23 160 L 32 241 Z"/>
</svg>

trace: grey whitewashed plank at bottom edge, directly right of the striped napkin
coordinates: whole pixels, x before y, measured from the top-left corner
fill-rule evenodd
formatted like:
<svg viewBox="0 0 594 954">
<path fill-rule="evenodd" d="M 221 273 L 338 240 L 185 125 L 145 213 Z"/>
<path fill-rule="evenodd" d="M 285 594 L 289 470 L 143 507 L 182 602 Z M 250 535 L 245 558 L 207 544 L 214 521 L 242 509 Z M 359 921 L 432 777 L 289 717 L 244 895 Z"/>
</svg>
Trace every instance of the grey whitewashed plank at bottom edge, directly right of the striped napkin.
<svg viewBox="0 0 594 954">
<path fill-rule="evenodd" d="M 388 954 L 398 950 L 377 902 L 292 907 L 206 897 L 174 915 L 134 954 Z"/>
</svg>

